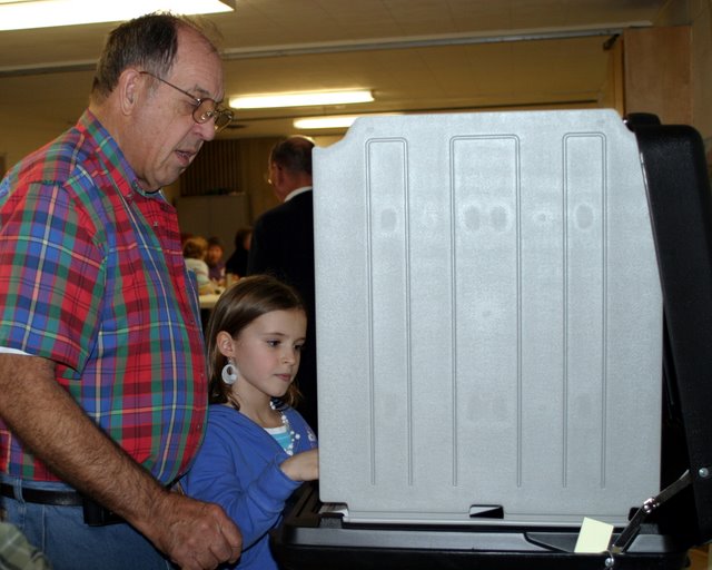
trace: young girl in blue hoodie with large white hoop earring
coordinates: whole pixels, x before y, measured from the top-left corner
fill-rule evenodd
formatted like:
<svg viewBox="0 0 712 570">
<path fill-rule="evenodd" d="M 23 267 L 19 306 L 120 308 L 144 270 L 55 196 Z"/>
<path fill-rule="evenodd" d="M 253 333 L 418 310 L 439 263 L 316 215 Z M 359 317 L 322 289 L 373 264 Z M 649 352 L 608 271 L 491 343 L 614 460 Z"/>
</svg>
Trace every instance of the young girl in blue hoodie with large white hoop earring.
<svg viewBox="0 0 712 570">
<path fill-rule="evenodd" d="M 297 293 L 266 275 L 227 289 L 208 323 L 212 405 L 205 441 L 181 483 L 237 523 L 240 569 L 277 568 L 268 531 L 291 492 L 318 478 L 316 436 L 291 407 L 306 326 Z"/>
</svg>

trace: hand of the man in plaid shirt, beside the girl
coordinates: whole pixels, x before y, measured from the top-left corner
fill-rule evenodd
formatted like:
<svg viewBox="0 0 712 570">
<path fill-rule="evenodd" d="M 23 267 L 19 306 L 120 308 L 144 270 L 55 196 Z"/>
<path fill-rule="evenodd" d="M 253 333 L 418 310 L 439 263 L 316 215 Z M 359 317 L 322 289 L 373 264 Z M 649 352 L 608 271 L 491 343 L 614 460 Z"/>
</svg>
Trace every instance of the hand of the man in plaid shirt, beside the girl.
<svg viewBox="0 0 712 570">
<path fill-rule="evenodd" d="M 184 570 L 235 563 L 240 556 L 243 535 L 222 509 L 179 493 L 162 493 L 150 520 L 137 527 Z"/>
</svg>

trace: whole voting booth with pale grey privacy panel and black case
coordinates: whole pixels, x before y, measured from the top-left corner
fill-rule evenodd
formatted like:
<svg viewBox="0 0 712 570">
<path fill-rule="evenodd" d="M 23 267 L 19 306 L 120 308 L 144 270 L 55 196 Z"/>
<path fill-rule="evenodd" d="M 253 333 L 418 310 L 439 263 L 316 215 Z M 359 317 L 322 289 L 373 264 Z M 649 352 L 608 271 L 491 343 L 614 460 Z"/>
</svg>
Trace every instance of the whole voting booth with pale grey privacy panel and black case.
<svg viewBox="0 0 712 570">
<path fill-rule="evenodd" d="M 315 149 L 320 482 L 277 561 L 685 568 L 712 538 L 699 134 L 602 110 L 352 129 Z M 613 529 L 599 553 L 574 552 L 584 518 Z"/>
</svg>

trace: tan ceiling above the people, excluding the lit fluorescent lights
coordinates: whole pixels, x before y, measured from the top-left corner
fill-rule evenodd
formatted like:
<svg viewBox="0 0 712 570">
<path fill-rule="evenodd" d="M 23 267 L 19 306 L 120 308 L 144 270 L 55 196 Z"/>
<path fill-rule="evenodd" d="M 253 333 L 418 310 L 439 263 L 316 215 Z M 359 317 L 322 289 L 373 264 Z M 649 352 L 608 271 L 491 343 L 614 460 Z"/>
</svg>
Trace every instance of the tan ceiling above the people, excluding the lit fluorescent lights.
<svg viewBox="0 0 712 570">
<path fill-rule="evenodd" d="M 235 12 L 209 17 L 222 37 L 227 95 L 362 87 L 376 100 L 240 111 L 221 136 L 296 132 L 296 116 L 596 105 L 606 41 L 624 28 L 654 24 L 665 4 L 236 0 Z M 86 107 L 103 38 L 115 26 L 0 32 L 0 106 L 58 128 L 73 124 Z"/>
</svg>

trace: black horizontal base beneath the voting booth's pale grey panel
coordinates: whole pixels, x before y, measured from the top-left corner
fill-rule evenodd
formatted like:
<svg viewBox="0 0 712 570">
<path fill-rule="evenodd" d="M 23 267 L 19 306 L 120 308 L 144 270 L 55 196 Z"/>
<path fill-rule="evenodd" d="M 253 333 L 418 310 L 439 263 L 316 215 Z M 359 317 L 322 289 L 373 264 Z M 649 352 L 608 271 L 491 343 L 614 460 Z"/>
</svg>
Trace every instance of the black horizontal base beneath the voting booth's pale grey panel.
<svg viewBox="0 0 712 570">
<path fill-rule="evenodd" d="M 345 523 L 323 512 L 318 485 L 305 483 L 271 534 L 284 570 L 680 570 L 689 542 L 644 523 L 624 552 L 574 553 L 577 532 L 547 528 Z M 621 535 L 614 534 L 613 540 Z"/>
</svg>

